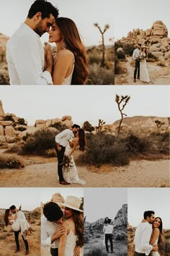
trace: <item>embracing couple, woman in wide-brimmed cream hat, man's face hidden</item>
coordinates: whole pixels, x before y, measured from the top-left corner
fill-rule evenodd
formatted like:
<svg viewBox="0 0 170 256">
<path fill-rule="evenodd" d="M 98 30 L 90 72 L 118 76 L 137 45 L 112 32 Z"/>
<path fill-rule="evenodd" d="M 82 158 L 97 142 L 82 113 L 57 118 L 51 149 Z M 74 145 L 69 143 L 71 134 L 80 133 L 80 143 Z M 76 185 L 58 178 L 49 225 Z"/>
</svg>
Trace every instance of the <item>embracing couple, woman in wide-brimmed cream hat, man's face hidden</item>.
<svg viewBox="0 0 170 256">
<path fill-rule="evenodd" d="M 66 197 L 64 203 L 46 203 L 41 218 L 42 247 L 50 247 L 50 254 L 53 256 L 82 256 L 83 212 L 81 200 L 74 196 Z"/>
</svg>

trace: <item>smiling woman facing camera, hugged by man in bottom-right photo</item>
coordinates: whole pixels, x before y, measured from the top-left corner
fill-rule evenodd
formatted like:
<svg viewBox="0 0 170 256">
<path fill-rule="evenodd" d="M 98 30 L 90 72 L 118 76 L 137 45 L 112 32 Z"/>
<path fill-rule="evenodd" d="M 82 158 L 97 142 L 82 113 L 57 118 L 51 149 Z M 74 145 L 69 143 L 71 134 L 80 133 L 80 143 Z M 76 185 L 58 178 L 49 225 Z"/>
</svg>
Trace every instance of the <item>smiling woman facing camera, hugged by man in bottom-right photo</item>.
<svg viewBox="0 0 170 256">
<path fill-rule="evenodd" d="M 162 220 L 160 217 L 156 217 L 153 221 L 153 232 L 151 235 L 151 240 L 150 240 L 150 244 L 151 245 L 161 245 L 162 242 Z M 160 254 L 158 252 L 151 252 L 151 256 L 160 256 Z"/>
</svg>

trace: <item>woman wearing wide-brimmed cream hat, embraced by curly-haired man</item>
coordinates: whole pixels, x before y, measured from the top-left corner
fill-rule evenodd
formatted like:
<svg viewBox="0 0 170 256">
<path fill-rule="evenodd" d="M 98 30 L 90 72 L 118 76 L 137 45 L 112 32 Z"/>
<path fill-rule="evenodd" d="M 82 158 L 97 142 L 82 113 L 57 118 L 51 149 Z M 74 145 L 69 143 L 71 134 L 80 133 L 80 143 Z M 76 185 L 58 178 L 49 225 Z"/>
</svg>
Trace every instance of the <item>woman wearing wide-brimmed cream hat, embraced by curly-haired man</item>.
<svg viewBox="0 0 170 256">
<path fill-rule="evenodd" d="M 76 246 L 84 246 L 84 211 L 80 209 L 81 200 L 68 196 L 64 204 L 58 202 L 58 205 L 65 207 L 63 224 L 66 226 L 66 233 L 60 238 L 58 256 L 73 256 Z"/>
</svg>

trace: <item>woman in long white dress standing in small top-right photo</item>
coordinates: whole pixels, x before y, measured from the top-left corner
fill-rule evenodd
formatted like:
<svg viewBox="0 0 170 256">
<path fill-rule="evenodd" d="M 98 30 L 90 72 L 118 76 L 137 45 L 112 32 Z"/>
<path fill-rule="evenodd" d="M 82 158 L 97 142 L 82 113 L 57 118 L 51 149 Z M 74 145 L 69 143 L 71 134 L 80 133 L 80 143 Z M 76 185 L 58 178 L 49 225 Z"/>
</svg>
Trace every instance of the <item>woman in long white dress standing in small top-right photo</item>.
<svg viewBox="0 0 170 256">
<path fill-rule="evenodd" d="M 140 81 L 150 82 L 148 69 L 146 66 L 146 58 L 147 58 L 146 46 L 142 46 L 141 49 L 142 51 L 140 51 Z"/>
</svg>

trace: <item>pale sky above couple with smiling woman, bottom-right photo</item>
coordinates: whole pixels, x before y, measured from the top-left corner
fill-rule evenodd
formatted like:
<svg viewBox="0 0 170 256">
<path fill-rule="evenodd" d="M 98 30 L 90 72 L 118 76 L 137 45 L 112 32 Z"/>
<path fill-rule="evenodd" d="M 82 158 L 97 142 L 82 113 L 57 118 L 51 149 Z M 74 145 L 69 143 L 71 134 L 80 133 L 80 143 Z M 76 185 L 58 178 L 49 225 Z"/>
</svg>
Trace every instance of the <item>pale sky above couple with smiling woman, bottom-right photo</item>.
<svg viewBox="0 0 170 256">
<path fill-rule="evenodd" d="M 160 170 L 161 171 L 161 170 Z M 170 229 L 170 188 L 128 188 L 128 222 L 138 226 L 146 210 L 161 217 L 164 229 Z"/>
</svg>

